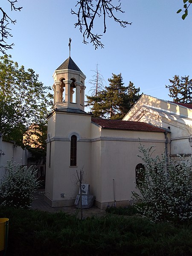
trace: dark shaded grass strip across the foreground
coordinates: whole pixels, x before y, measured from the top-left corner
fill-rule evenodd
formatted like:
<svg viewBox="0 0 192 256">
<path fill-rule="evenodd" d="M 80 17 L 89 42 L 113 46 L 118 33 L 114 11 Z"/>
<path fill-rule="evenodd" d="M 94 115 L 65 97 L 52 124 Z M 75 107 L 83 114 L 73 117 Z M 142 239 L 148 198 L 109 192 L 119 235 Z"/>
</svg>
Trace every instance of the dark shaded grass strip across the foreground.
<svg viewBox="0 0 192 256">
<path fill-rule="evenodd" d="M 107 215 L 83 221 L 64 212 L 0 208 L 9 218 L 7 256 L 192 255 L 192 225 Z"/>
</svg>

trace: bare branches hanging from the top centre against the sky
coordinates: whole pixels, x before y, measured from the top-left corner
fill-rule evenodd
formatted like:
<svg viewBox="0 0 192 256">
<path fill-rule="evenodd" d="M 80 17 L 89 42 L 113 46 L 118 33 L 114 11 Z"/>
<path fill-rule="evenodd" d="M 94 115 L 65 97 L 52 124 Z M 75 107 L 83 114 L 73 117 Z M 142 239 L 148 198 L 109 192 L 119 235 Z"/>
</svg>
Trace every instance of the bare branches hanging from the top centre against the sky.
<svg viewBox="0 0 192 256">
<path fill-rule="evenodd" d="M 118 2 L 120 1 L 118 0 Z M 124 13 L 124 11 L 121 9 L 121 3 L 117 6 L 113 5 L 113 3 L 114 0 L 79 0 L 76 4 L 76 7 L 78 7 L 77 12 L 71 9 L 71 14 L 77 15 L 78 21 L 74 25 L 75 27 L 79 26 L 80 32 L 83 33 L 84 44 L 87 44 L 87 39 L 90 38 L 90 43 L 93 43 L 95 49 L 104 47 L 104 44 L 100 41 L 102 35 L 93 32 L 93 21 L 96 20 L 96 17 L 103 16 L 103 33 L 107 30 L 106 17 L 113 18 L 123 28 L 126 25 L 131 25 L 132 22 L 120 20 L 114 15 L 114 12 Z"/>
</svg>

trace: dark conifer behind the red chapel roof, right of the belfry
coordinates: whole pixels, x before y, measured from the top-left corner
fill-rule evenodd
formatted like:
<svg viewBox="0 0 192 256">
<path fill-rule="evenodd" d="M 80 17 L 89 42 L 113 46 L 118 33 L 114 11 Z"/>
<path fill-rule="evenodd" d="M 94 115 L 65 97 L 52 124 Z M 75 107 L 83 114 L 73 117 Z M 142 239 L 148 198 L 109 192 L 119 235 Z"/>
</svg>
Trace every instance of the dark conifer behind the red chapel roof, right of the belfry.
<svg viewBox="0 0 192 256">
<path fill-rule="evenodd" d="M 140 88 L 136 89 L 131 81 L 128 87 L 123 86 L 121 74 L 112 74 L 108 81 L 109 86 L 97 96 L 87 96 L 87 106 L 92 106 L 94 117 L 122 119 L 140 98 Z"/>
</svg>

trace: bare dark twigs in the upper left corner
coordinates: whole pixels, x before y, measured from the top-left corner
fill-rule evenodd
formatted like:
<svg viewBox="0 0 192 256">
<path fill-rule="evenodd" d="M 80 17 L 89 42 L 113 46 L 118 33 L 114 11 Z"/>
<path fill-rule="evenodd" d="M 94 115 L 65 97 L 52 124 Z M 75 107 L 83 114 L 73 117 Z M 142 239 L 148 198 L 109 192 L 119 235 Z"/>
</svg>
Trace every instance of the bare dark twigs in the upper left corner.
<svg viewBox="0 0 192 256">
<path fill-rule="evenodd" d="M 16 7 L 15 4 L 17 3 L 17 0 L 7 0 L 11 5 L 11 11 L 20 11 L 23 7 Z M 12 18 L 6 13 L 5 10 L 3 10 L 2 7 L 0 7 L 0 13 L 1 13 L 1 20 L 0 20 L 0 52 L 3 54 L 6 54 L 6 50 L 12 49 L 12 46 L 14 44 L 7 44 L 6 40 L 8 37 L 12 37 L 12 34 L 10 33 L 10 28 L 8 27 L 10 23 L 15 24 L 16 20 L 12 20 Z"/>
</svg>

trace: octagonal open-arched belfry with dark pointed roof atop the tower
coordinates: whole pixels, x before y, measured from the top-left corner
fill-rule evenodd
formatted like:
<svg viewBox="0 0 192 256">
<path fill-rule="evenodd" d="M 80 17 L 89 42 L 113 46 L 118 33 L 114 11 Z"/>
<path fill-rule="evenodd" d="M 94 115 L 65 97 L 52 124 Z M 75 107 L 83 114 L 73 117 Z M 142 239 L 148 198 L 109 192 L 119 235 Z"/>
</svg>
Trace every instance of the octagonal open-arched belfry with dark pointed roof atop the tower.
<svg viewBox="0 0 192 256">
<path fill-rule="evenodd" d="M 53 74 L 54 108 L 67 112 L 84 113 L 84 80 L 86 76 L 71 57 Z"/>
</svg>

